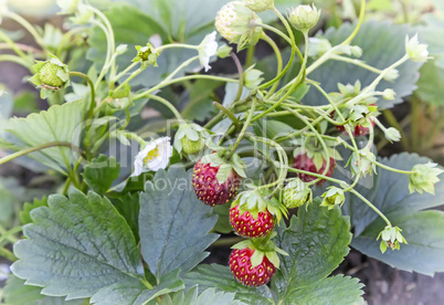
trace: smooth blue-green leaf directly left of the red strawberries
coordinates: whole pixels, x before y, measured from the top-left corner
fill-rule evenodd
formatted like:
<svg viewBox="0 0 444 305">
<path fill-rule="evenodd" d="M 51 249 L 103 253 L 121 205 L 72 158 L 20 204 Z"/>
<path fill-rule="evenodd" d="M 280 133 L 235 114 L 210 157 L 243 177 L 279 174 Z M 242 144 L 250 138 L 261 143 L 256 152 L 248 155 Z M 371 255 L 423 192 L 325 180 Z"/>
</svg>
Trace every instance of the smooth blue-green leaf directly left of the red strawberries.
<svg viewBox="0 0 444 305">
<path fill-rule="evenodd" d="M 180 269 L 187 273 L 208 256 L 204 250 L 219 235 L 209 234 L 216 217 L 190 188 L 191 171 L 159 170 L 140 193 L 141 254 L 157 277 Z"/>
</svg>

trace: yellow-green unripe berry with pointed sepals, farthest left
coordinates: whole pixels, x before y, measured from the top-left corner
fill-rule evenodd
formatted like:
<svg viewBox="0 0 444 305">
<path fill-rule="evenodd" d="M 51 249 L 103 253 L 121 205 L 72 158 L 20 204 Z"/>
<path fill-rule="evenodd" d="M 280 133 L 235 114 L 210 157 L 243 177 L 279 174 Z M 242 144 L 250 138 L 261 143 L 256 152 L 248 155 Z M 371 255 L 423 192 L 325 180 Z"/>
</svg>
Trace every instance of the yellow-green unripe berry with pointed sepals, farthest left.
<svg viewBox="0 0 444 305">
<path fill-rule="evenodd" d="M 70 71 L 55 55 L 49 53 L 50 60 L 36 61 L 35 74 L 29 80 L 41 88 L 41 97 L 46 98 L 55 91 L 70 85 Z"/>
</svg>

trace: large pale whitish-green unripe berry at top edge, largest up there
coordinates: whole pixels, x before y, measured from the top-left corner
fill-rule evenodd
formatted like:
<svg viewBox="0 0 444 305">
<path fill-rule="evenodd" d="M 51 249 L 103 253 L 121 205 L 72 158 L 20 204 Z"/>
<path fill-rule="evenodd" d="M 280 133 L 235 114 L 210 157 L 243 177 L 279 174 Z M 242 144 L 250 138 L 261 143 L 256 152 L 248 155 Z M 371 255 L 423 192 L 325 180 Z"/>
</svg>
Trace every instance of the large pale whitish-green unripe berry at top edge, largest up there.
<svg viewBox="0 0 444 305">
<path fill-rule="evenodd" d="M 256 44 L 261 38 L 261 18 L 244 2 L 233 1 L 222 7 L 215 17 L 218 32 L 230 43 L 237 44 L 237 51 Z"/>
</svg>

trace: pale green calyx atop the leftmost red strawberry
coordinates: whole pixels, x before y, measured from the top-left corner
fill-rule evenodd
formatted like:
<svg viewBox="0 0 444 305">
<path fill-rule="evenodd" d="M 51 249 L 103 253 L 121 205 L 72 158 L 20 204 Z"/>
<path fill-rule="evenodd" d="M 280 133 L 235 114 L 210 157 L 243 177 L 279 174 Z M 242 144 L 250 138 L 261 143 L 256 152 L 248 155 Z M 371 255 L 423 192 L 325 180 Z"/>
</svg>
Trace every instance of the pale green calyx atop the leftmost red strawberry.
<svg viewBox="0 0 444 305">
<path fill-rule="evenodd" d="M 209 145 L 209 148 L 215 148 L 214 150 L 216 150 L 216 152 L 203 156 L 200 161 L 202 164 L 210 164 L 211 167 L 219 167 L 215 178 L 220 185 L 230 178 L 233 170 L 240 177 L 246 178 L 246 165 L 237 154 L 233 154 L 230 160 L 226 160 L 225 156 L 230 154 L 230 150 L 223 147 L 213 147 L 211 144 Z"/>
</svg>

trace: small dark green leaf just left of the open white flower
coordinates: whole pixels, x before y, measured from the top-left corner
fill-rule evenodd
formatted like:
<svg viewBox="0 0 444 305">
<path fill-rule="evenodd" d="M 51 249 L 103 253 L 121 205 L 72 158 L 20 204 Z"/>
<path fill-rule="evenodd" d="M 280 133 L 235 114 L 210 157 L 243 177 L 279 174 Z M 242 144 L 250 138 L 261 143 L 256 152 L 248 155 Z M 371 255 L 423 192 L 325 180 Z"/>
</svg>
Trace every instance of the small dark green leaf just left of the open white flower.
<svg viewBox="0 0 444 305">
<path fill-rule="evenodd" d="M 85 166 L 83 177 L 86 185 L 93 191 L 104 194 L 110 188 L 114 180 L 118 178 L 120 164 L 117 162 L 116 158 L 101 155 Z"/>
</svg>

